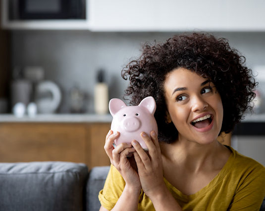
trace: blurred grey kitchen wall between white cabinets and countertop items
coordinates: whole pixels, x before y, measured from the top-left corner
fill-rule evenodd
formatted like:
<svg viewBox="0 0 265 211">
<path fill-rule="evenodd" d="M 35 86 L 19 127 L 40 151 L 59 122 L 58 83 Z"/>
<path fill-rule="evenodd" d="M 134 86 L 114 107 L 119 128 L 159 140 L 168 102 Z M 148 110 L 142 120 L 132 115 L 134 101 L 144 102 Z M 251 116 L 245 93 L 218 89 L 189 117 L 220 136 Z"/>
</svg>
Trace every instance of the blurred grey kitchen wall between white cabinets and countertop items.
<svg viewBox="0 0 265 211">
<path fill-rule="evenodd" d="M 75 84 L 88 95 L 87 113 L 93 113 L 96 72 L 106 69 L 109 98 L 121 98 L 128 82 L 120 72 L 140 55 L 146 42 L 164 41 L 177 33 L 95 33 L 89 31 L 13 31 L 12 67 L 42 66 L 45 79 L 63 93 L 60 113 L 69 111 L 69 90 Z M 214 33 L 227 38 L 247 58 L 250 68 L 265 65 L 265 33 Z"/>
</svg>

